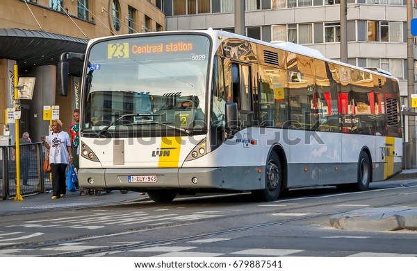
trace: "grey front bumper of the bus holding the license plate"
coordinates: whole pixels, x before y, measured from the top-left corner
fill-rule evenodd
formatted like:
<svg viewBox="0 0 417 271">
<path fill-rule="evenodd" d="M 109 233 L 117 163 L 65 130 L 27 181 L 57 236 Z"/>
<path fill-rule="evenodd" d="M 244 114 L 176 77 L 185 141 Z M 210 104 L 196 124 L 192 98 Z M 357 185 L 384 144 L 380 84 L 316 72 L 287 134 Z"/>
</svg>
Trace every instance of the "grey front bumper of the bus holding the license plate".
<svg viewBox="0 0 417 271">
<path fill-rule="evenodd" d="M 136 191 L 228 189 L 250 191 L 263 189 L 264 169 L 265 167 L 260 166 L 228 168 L 80 168 L 78 177 L 79 186 L 85 189 Z M 144 179 L 152 181 L 141 181 Z M 132 180 L 136 180 L 136 182 Z"/>
</svg>

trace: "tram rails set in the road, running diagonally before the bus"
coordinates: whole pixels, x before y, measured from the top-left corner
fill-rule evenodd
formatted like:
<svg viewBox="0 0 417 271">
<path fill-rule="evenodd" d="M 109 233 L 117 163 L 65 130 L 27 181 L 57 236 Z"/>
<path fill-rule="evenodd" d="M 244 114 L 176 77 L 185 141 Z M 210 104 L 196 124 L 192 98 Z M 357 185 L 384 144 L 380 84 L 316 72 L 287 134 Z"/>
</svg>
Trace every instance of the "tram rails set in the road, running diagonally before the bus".
<svg viewBox="0 0 417 271">
<path fill-rule="evenodd" d="M 391 188 L 391 189 L 400 189 L 403 188 L 404 186 L 402 184 L 400 184 L 400 187 L 397 188 Z M 379 189 L 375 189 L 373 191 L 377 191 Z M 386 190 L 386 189 L 384 189 Z M 330 197 L 336 197 L 336 196 L 343 196 L 343 195 L 352 195 L 352 193 L 338 193 L 338 194 L 332 194 L 332 195 L 328 195 L 328 197 L 326 195 L 324 195 L 325 198 L 330 198 Z M 359 194 L 359 193 L 358 193 Z M 359 194 L 360 195 L 360 194 Z M 386 195 L 387 198 L 389 197 L 393 197 L 395 195 Z M 308 197 L 308 199 L 313 199 L 315 197 Z M 283 200 L 278 200 L 277 202 L 275 202 L 275 204 L 285 204 L 288 201 L 293 201 L 293 200 L 304 200 L 307 198 L 285 198 Z M 358 200 L 372 200 L 372 199 L 381 199 L 381 195 L 375 195 L 375 196 L 371 196 L 369 197 L 369 193 L 366 193 L 366 196 L 360 197 Z M 194 198 L 194 199 L 181 199 L 179 201 L 174 202 L 173 204 L 176 204 L 177 207 L 181 206 L 181 204 L 188 204 L 190 201 L 202 201 L 199 198 Z M 346 202 L 352 202 L 352 198 L 348 198 L 346 200 L 337 200 L 337 204 L 343 204 Z M 383 202 L 383 201 L 382 201 Z M 416 201 L 414 201 L 416 202 Z M 132 203 L 131 203 L 132 204 Z M 131 205 L 131 204 L 127 204 L 127 205 Z M 138 204 L 138 203 L 137 203 Z M 326 209 L 326 205 L 332 205 L 335 204 L 334 201 L 332 202 L 328 202 L 328 203 L 324 203 L 324 202 L 316 202 L 316 203 L 311 203 L 311 204 L 303 204 L 302 208 L 303 209 L 308 209 L 308 208 L 314 208 L 314 207 L 322 207 L 322 209 Z M 378 205 L 374 205 L 373 207 L 389 207 L 389 206 L 393 206 L 393 205 L 400 205 L 400 204 L 410 204 L 410 200 L 396 200 L 395 202 L 389 202 L 386 204 L 378 204 Z M 120 206 L 124 206 L 126 204 L 120 205 Z M 150 204 L 150 206 L 152 206 L 154 204 Z M 172 204 L 167 204 L 167 205 L 163 205 L 163 204 L 157 204 L 158 207 L 163 208 L 164 206 L 171 206 Z M 112 207 L 115 207 L 114 205 L 112 205 Z M 95 207 L 97 208 L 97 207 Z M 288 206 L 288 207 L 280 207 L 279 212 L 291 212 L 291 211 L 297 211 L 297 209 L 300 209 L 300 206 Z M 286 218 L 284 220 L 279 220 L 279 221 L 274 221 L 274 222 L 264 222 L 264 223 L 259 223 L 259 224 L 254 224 L 254 225 L 247 225 L 245 227 L 235 227 L 235 228 L 230 228 L 230 229 L 224 229 L 224 230 L 220 230 L 220 231 L 212 231 L 212 232 L 208 232 L 208 233 L 204 233 L 204 234 L 194 234 L 192 236 L 181 236 L 178 238 L 170 238 L 170 239 L 165 239 L 165 240 L 159 240 L 159 241 L 149 241 L 149 242 L 138 242 L 138 243 L 129 243 L 129 244 L 124 244 L 124 245 L 108 245 L 108 246 L 100 246 L 97 248 L 88 248 L 86 250 L 79 250 L 79 251 L 72 251 L 72 252 L 63 252 L 63 253 L 56 253 L 56 254 L 49 254 L 49 255 L 45 255 L 45 256 L 88 256 L 88 255 L 93 255 L 93 254 L 97 254 L 97 253 L 105 253 L 105 252 L 113 252 L 115 250 L 133 250 L 133 249 L 138 249 L 138 248 L 143 248 L 143 247 L 151 247 L 151 246 L 155 246 L 155 245 L 166 245 L 169 243 L 176 243 L 176 242 L 182 242 L 182 241 L 192 241 L 195 240 L 197 238 L 207 238 L 210 236 L 219 236 L 222 234 L 230 234 L 230 233 L 236 233 L 239 231 L 247 231 L 247 230 L 251 230 L 251 229 L 258 229 L 258 228 L 262 228 L 262 227 L 270 227 L 270 226 L 277 226 L 277 225 L 284 225 L 284 224 L 288 224 L 291 222 L 297 222 L 297 221 L 305 221 L 305 220 L 311 220 L 311 219 L 315 219 L 315 218 L 322 218 L 322 217 L 329 217 L 329 216 L 333 216 L 336 214 L 340 214 L 340 213 L 345 213 L 347 211 L 352 211 L 354 209 L 354 207 L 351 208 L 347 208 L 344 209 L 343 211 L 338 211 L 338 212 L 329 212 L 329 213 L 314 213 L 308 216 L 302 216 L 302 217 L 292 217 L 292 218 Z M 277 213 L 277 209 L 272 209 L 272 210 L 268 210 L 268 211 L 253 211 L 251 213 L 236 213 L 236 214 L 231 214 L 230 216 L 228 216 L 228 218 L 232 218 L 232 219 L 238 219 L 240 216 L 256 216 L 256 215 L 263 215 L 263 214 L 272 214 L 272 213 Z M 126 236 L 129 234 L 139 234 L 139 233 L 143 233 L 145 231 L 157 231 L 160 229 L 167 229 L 167 228 L 174 228 L 174 227 L 183 227 L 183 226 L 189 226 L 189 225 L 197 225 L 197 223 L 206 223 L 206 222 L 210 222 L 213 220 L 221 220 L 224 217 L 215 217 L 215 218 L 205 218 L 203 220 L 199 220 L 198 222 L 195 221 L 188 221 L 188 222 L 179 222 L 179 223 L 172 223 L 172 224 L 168 224 L 168 225 L 163 225 L 163 226 L 153 226 L 153 227 L 149 227 L 149 226 L 145 226 L 145 227 L 138 227 L 136 229 L 125 229 L 122 232 L 113 232 L 113 233 L 108 233 L 108 234 L 102 234 L 102 235 L 95 235 L 95 236 L 76 236 L 74 238 L 67 238 L 64 240 L 55 240 L 55 241 L 49 241 L 49 242 L 42 242 L 42 243 L 22 243 L 22 244 L 18 244 L 18 245 L 9 245 L 9 246 L 0 246 L 0 250 L 4 249 L 4 248 L 14 248 L 14 249 L 31 249 L 31 250 L 36 250 L 36 249 L 47 249 L 47 248 L 53 248 L 56 247 L 58 245 L 68 245 L 68 244 L 72 244 L 72 243 L 80 243 L 80 242 L 88 242 L 88 241 L 94 241 L 94 240 L 98 240 L 98 239 L 105 239 L 105 238 L 111 238 L 111 237 L 115 237 L 115 236 Z"/>
</svg>

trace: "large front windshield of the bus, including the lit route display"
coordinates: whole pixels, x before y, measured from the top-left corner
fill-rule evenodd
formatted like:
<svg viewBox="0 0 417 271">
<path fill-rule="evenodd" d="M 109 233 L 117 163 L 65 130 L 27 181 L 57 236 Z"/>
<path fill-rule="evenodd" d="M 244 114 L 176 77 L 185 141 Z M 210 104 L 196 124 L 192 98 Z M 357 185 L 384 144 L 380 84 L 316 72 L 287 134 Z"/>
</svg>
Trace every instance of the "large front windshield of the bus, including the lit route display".
<svg viewBox="0 0 417 271">
<path fill-rule="evenodd" d="M 83 132 L 131 137 L 204 132 L 210 44 L 206 36 L 189 34 L 92 44 Z"/>
</svg>

